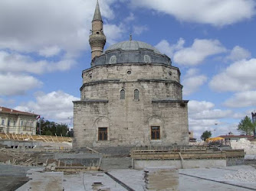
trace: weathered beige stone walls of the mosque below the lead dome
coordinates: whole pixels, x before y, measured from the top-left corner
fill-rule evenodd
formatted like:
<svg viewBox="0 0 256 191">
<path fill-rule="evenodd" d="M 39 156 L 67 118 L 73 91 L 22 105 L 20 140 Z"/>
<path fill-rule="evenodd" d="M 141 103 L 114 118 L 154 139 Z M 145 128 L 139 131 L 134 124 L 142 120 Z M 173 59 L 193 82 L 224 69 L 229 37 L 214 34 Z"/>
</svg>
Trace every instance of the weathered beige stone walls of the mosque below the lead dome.
<svg viewBox="0 0 256 191">
<path fill-rule="evenodd" d="M 81 101 L 74 102 L 74 147 L 189 144 L 188 108 L 177 68 L 96 66 L 83 76 Z M 120 99 L 121 89 L 125 99 Z M 135 89 L 139 100 L 134 100 Z M 160 140 L 151 140 L 151 126 L 160 126 Z M 98 141 L 98 128 L 108 128 L 107 141 Z"/>
</svg>

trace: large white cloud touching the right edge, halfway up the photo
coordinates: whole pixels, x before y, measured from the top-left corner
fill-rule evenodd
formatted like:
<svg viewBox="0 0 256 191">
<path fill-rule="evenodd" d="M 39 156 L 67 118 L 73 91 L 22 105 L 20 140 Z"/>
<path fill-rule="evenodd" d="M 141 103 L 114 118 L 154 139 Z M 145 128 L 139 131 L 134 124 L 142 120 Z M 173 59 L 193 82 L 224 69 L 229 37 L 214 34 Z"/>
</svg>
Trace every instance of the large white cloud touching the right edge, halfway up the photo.
<svg viewBox="0 0 256 191">
<path fill-rule="evenodd" d="M 214 76 L 209 86 L 218 92 L 248 91 L 256 88 L 256 59 L 239 60 Z"/>
</svg>

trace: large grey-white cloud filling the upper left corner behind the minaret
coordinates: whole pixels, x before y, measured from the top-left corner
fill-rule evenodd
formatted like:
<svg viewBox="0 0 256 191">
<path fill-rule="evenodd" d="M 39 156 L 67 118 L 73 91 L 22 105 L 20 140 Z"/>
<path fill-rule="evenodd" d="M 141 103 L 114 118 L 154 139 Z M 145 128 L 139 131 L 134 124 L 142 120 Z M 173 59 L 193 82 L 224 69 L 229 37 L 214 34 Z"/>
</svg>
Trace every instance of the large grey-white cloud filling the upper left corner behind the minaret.
<svg viewBox="0 0 256 191">
<path fill-rule="evenodd" d="M 113 18 L 110 5 L 116 1 L 100 1 L 103 18 Z M 91 0 L 2 0 L 0 49 L 52 56 L 58 52 L 56 47 L 61 47 L 68 56 L 75 56 L 89 48 L 95 5 Z"/>
</svg>

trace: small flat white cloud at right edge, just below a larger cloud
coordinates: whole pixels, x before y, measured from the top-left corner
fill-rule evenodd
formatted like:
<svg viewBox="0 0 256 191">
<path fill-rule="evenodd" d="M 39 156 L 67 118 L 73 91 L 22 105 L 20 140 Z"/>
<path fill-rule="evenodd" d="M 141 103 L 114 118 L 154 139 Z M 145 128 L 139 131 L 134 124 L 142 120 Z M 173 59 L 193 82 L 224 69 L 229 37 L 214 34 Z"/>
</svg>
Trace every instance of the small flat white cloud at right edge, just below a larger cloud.
<svg viewBox="0 0 256 191">
<path fill-rule="evenodd" d="M 224 105 L 231 108 L 242 108 L 256 106 L 256 91 L 246 91 L 235 93 Z"/>
</svg>

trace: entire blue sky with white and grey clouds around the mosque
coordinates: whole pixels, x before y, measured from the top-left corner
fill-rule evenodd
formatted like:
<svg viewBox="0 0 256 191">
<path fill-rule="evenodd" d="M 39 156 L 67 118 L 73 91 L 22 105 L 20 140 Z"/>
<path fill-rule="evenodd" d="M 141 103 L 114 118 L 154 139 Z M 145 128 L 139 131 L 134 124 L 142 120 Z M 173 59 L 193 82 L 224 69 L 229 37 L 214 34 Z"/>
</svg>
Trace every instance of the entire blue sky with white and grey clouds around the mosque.
<svg viewBox="0 0 256 191">
<path fill-rule="evenodd" d="M 256 109 L 256 1 L 99 2 L 105 48 L 129 40 L 131 33 L 179 67 L 196 138 L 205 130 L 238 133 L 238 122 Z M 95 5 L 96 0 L 0 1 L 0 105 L 70 123 L 81 72 L 90 67 Z"/>
</svg>

